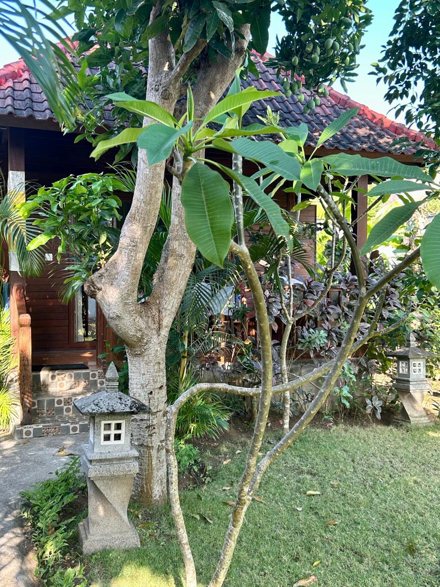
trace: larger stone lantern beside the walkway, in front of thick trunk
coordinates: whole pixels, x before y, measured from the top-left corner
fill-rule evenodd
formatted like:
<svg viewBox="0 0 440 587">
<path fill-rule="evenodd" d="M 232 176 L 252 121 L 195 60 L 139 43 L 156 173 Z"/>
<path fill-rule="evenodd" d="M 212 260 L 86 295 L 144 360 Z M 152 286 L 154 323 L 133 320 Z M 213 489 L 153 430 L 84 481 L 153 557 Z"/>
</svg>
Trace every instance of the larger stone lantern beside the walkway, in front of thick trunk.
<svg viewBox="0 0 440 587">
<path fill-rule="evenodd" d="M 89 492 L 89 515 L 78 527 L 84 554 L 107 548 L 140 545 L 127 517 L 137 452 L 131 447 L 131 416 L 150 411 L 134 397 L 118 391 L 118 373 L 113 363 L 106 373 L 106 389 L 81 397 L 73 405 L 89 414 L 89 444 L 84 444 L 82 465 Z"/>
</svg>

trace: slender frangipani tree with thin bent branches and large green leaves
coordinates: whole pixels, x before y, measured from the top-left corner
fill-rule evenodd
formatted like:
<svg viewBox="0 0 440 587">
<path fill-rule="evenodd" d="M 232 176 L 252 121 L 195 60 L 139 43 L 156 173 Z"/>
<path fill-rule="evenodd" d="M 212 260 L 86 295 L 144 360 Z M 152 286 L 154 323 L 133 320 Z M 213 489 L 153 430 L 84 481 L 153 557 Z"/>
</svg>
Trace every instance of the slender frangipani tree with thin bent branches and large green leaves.
<svg viewBox="0 0 440 587">
<path fill-rule="evenodd" d="M 315 153 L 319 146 L 330 139 L 333 134 L 343 129 L 348 120 L 357 113 L 357 109 L 344 113 L 324 129 L 317 140 L 316 149 L 310 157 L 306 157 L 304 152 L 304 143 L 307 138 L 307 129 L 304 127 L 292 130 L 281 129 L 276 124 L 271 126 L 252 124 L 248 127 L 241 127 L 243 113 L 251 103 L 254 92 L 255 90 L 250 89 L 243 92 L 229 93 L 201 120 L 195 119 L 194 116 L 191 87 L 188 87 L 187 90 L 187 110 L 179 121 L 167 119 L 165 112 L 158 111 L 157 106 L 153 107 L 147 102 L 143 102 L 143 106 L 137 103 L 136 106 L 143 109 L 145 116 L 155 117 L 158 121 L 151 123 L 137 136 L 137 144 L 147 151 L 148 160 L 157 163 L 161 160 L 167 160 L 171 153 L 173 155 L 174 164 L 170 167 L 170 171 L 181 185 L 181 203 L 185 211 L 185 224 L 189 237 L 202 254 L 212 262 L 222 265 L 228 252 L 236 255 L 241 262 L 248 286 L 252 291 L 261 346 L 262 377 L 259 389 L 227 384 L 196 384 L 182 393 L 167 409 L 168 487 L 172 515 L 185 562 L 188 587 L 196 587 L 197 579 L 178 497 L 178 468 L 174 453 L 174 432 L 178 411 L 191 397 L 201 392 L 224 392 L 259 397 L 258 416 L 256 417 L 245 469 L 238 486 L 238 494 L 233 506 L 221 556 L 209 583 L 209 587 L 220 587 L 224 583 L 228 572 L 246 510 L 252 502 L 266 468 L 295 441 L 301 431 L 312 420 L 336 385 L 346 360 L 368 340 L 379 334 L 383 336 L 387 331 L 397 328 L 408 316 L 410 308 L 407 308 L 407 312 L 399 316 L 388 330 L 378 331 L 376 328 L 384 305 L 385 289 L 388 282 L 418 259 L 420 250 L 417 248 L 408 251 L 400 262 L 389 271 L 384 272 L 383 275 L 378 276 L 373 285 L 369 285 L 368 288 L 361 255 L 371 252 L 374 247 L 380 245 L 400 225 L 411 218 L 414 211 L 421 205 L 421 201 L 415 202 L 412 200 L 410 195 L 412 191 L 425 188 L 428 193 L 426 199 L 429 199 L 436 197 L 438 188 L 440 188 L 440 185 L 436 184 L 421 168 L 401 164 L 390 157 L 370 159 L 360 155 L 348 154 L 316 157 Z M 112 98 L 121 100 L 119 95 L 112 96 Z M 133 107 L 130 103 L 131 100 L 127 98 L 127 96 L 123 96 L 123 102 L 119 103 L 122 103 L 124 107 Z M 208 127 L 210 122 L 218 121 L 221 117 L 223 121 L 221 129 L 213 130 Z M 195 129 L 196 122 L 198 124 Z M 280 142 L 275 143 L 266 140 L 264 135 L 268 133 L 278 134 Z M 253 139 L 258 138 L 259 140 L 252 140 L 250 137 L 253 137 Z M 97 149 L 105 149 L 108 144 L 110 143 L 103 141 Z M 232 168 L 223 166 L 209 158 L 209 149 L 212 147 L 234 155 Z M 201 155 L 201 151 L 208 154 L 206 156 Z M 256 161 L 260 166 L 260 171 L 251 178 L 243 176 L 240 170 L 241 157 Z M 347 200 L 347 187 L 353 185 L 353 181 L 349 183 L 348 178 L 357 178 L 365 174 L 377 178 L 377 185 L 367 194 L 375 198 L 374 205 L 380 203 L 385 194 L 399 194 L 403 205 L 393 208 L 373 227 L 367 242 L 359 252 L 352 234 L 352 227 L 341 210 L 344 210 L 344 203 Z M 225 177 L 232 180 L 232 194 Z M 246 246 L 243 231 L 243 193 L 252 198 L 265 211 L 272 230 L 280 238 L 285 238 L 287 251 L 290 248 L 290 242 L 287 222 L 283 218 L 283 212 L 275 201 L 264 193 L 261 185 L 256 181 L 258 177 L 269 178 L 266 185 L 269 185 L 272 181 L 281 180 L 278 181 L 278 184 L 291 185 L 296 193 L 303 193 L 304 191 L 316 193 L 326 215 L 331 219 L 334 227 L 338 229 L 337 232 L 335 231 L 337 238 L 344 241 L 344 252 L 341 258 L 345 255 L 346 247 L 351 252 L 358 280 L 357 301 L 334 359 L 316 367 L 309 375 L 296 377 L 290 381 L 285 380 L 285 382 L 277 386 L 273 386 L 272 380 L 272 339 L 265 296 L 249 254 L 249 249 Z M 381 181 L 379 178 L 384 178 L 385 181 Z M 232 240 L 231 230 L 234 221 L 237 236 L 236 239 Z M 432 255 L 432 249 L 435 247 L 435 240 L 432 241 L 432 235 L 435 234 L 436 219 L 433 222 L 434 224 L 428 227 L 422 240 L 422 252 L 426 252 L 425 265 L 427 266 L 436 258 L 436 256 Z M 331 286 L 334 271 L 339 262 L 336 262 L 336 265 L 330 269 L 326 276 L 323 296 L 327 294 L 328 288 Z M 435 274 L 431 271 L 431 275 L 433 281 L 435 281 L 438 273 Z M 367 306 L 375 308 L 374 318 L 370 322 L 365 335 L 358 336 Z M 272 450 L 259 459 L 272 394 L 290 393 L 304 383 L 317 379 L 320 379 L 319 391 L 303 415 L 292 429 L 285 430 L 284 436 Z"/>
</svg>

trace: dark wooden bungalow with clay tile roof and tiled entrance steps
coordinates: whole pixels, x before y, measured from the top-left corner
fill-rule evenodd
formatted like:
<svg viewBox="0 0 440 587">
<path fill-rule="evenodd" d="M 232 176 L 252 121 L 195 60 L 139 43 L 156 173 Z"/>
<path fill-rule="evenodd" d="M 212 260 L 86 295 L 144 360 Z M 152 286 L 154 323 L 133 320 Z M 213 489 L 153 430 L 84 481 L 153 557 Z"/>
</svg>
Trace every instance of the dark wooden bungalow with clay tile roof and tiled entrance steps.
<svg viewBox="0 0 440 587">
<path fill-rule="evenodd" d="M 281 92 L 275 70 L 269 69 L 259 56 L 255 56 L 255 62 L 259 79 L 251 77 L 249 82 L 243 82 L 243 87 L 253 85 Z M 280 95 L 259 100 L 252 104 L 243 124 L 259 122 L 257 116 L 265 116 L 270 105 L 274 113 L 279 113 L 282 126 L 307 124 L 306 152 L 310 152 L 324 127 L 344 111 L 359 106 L 357 116 L 327 141 L 325 147 L 320 147 L 318 154 L 343 152 L 363 157 L 387 154 L 404 163 L 417 164 L 414 148 L 395 154 L 390 145 L 400 136 L 414 142 L 422 140 L 421 133 L 373 112 L 334 89 L 329 90 L 329 96 L 322 98 L 320 106 L 309 114 L 304 114 L 295 95 L 288 99 Z M 9 188 L 25 182 L 48 185 L 69 175 L 109 170 L 113 161 L 111 152 L 95 162 L 90 158 L 90 144 L 86 141 L 74 144 L 75 138 L 76 133 L 62 133 L 45 95 L 22 60 L 0 69 L 0 168 Z M 225 154 L 216 156 L 225 157 Z M 250 168 L 245 173 L 247 171 L 251 173 Z M 367 188 L 368 177 L 361 177 L 358 185 Z M 355 191 L 354 199 L 357 205 L 353 212 L 360 215 L 367 206 L 366 198 Z M 293 194 L 282 191 L 277 200 L 287 210 L 295 204 Z M 128 199 L 126 205 L 129 204 Z M 303 210 L 300 218 L 314 222 L 314 207 Z M 367 218 L 364 216 L 356 224 L 358 247 L 363 245 L 366 235 Z M 313 261 L 313 243 L 310 243 L 309 254 Z M 86 393 L 103 384 L 103 373 L 96 357 L 103 352 L 106 340 L 110 344 L 114 342 L 94 300 L 79 292 L 69 305 L 59 301 L 57 286 L 62 279 L 62 266 L 54 277 L 55 254 L 48 252 L 46 257 L 48 271 L 38 278 L 23 278 L 13 265 L 6 275 L 11 326 L 19 356 L 22 424 L 25 425 L 16 428 L 18 436 L 74 433 L 80 431 L 80 427 L 85 430 L 80 426 L 84 423 L 79 416 L 72 415 L 72 395 Z"/>
</svg>

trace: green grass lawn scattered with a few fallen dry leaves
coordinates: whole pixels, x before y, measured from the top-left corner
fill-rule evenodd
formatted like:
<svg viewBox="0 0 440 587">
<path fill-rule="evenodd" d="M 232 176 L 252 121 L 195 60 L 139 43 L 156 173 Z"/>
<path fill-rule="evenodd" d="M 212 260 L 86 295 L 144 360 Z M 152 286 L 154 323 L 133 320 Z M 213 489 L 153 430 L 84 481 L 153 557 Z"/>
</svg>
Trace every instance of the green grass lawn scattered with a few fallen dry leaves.
<svg viewBox="0 0 440 587">
<path fill-rule="evenodd" d="M 224 501 L 235 499 L 247 441 L 219 441 L 208 461 L 221 454 L 221 463 L 231 463 L 220 464 L 205 487 L 181 492 L 201 586 L 221 549 L 231 512 Z M 317 587 L 439 587 L 439 456 L 440 426 L 307 430 L 263 478 L 258 495 L 265 503 L 254 501 L 246 514 L 225 585 L 292 587 L 314 574 Z M 307 496 L 309 490 L 321 493 Z M 142 548 L 87 557 L 90 584 L 181 587 L 168 508 L 151 514 L 132 507 L 141 517 L 133 515 Z"/>
</svg>

